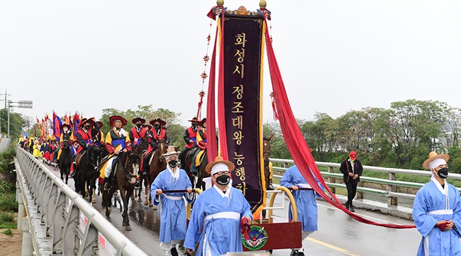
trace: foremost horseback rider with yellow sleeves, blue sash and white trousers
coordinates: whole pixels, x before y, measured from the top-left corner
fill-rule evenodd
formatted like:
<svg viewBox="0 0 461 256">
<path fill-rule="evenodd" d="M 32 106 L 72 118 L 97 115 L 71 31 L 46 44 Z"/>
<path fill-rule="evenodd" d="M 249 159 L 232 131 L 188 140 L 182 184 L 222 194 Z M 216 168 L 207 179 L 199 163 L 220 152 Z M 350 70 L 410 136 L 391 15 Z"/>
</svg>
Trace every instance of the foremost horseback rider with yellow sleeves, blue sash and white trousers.
<svg viewBox="0 0 461 256">
<path fill-rule="evenodd" d="M 126 119 L 121 116 L 111 116 L 109 118 L 109 121 L 113 129 L 110 130 L 109 133 L 107 133 L 106 135 L 106 150 L 107 152 L 109 152 L 110 155 L 113 155 L 113 157 L 107 160 L 106 169 L 104 169 L 105 190 L 111 189 L 111 177 L 113 177 L 113 160 L 116 160 L 121 150 L 123 152 L 131 150 L 130 138 L 126 133 L 126 130 L 123 129 L 123 126 L 126 126 L 126 124 L 128 123 Z"/>
</svg>

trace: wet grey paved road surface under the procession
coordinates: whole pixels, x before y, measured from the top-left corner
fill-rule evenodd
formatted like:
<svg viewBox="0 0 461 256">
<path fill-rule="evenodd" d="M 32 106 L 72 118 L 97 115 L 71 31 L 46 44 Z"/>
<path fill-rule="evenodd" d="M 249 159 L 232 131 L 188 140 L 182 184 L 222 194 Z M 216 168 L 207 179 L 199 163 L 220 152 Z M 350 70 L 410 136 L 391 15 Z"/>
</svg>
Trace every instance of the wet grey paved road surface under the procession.
<svg viewBox="0 0 461 256">
<path fill-rule="evenodd" d="M 53 167 L 50 169 L 57 174 Z M 70 179 L 71 187 L 72 184 Z M 288 206 L 287 199 L 284 199 L 283 204 Z M 275 205 L 282 205 L 282 196 L 277 196 Z M 94 207 L 104 215 L 100 197 Z M 413 225 L 412 221 L 372 211 L 357 209 L 356 213 L 379 223 Z M 121 226 L 121 212 L 117 208 L 113 208 L 111 223 L 148 255 L 162 255 L 158 247 L 160 218 L 157 211 L 143 203 L 132 202 L 129 215 L 133 230 L 125 231 Z M 274 217 L 287 218 L 287 210 L 274 210 Z M 325 201 L 318 201 L 318 231 L 309 235 L 303 241 L 303 246 L 306 255 L 416 255 L 420 239 L 416 229 L 401 230 L 367 225 L 355 221 Z M 289 252 L 290 250 L 274 250 L 272 255 L 287 256 Z"/>
</svg>

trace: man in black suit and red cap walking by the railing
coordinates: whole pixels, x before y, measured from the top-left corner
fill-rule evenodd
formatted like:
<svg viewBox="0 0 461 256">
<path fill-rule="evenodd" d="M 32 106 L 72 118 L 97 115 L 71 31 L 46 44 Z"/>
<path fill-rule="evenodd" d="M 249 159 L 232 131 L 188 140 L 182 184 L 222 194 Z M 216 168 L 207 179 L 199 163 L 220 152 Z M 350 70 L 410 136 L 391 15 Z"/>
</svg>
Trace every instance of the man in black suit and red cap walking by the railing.
<svg viewBox="0 0 461 256">
<path fill-rule="evenodd" d="M 351 151 L 349 157 L 341 162 L 339 170 L 343 172 L 343 180 L 348 189 L 348 201 L 345 203 L 345 208 L 355 212 L 352 200 L 357 193 L 357 182 L 360 182 L 360 176 L 362 176 L 363 172 L 362 163 L 357 159 L 357 153 L 355 151 Z"/>
</svg>

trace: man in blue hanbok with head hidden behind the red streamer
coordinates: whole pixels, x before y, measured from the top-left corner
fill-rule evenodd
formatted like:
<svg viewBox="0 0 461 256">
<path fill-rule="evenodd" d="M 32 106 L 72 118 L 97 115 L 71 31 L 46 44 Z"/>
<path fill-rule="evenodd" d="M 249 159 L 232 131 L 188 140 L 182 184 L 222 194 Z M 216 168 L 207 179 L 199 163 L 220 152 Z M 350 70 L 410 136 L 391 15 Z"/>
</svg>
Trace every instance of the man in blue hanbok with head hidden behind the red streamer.
<svg viewBox="0 0 461 256">
<path fill-rule="evenodd" d="M 314 176 L 315 177 L 315 176 Z M 318 182 L 318 185 L 323 188 L 323 185 Z M 317 231 L 317 201 L 316 193 L 312 190 L 311 185 L 306 182 L 306 179 L 299 172 L 298 167 L 293 165 L 289 167 L 280 179 L 280 186 L 292 189 L 294 200 L 296 201 L 296 211 L 298 213 L 298 221 L 302 222 L 302 240 L 313 231 Z M 301 189 L 300 189 L 301 188 Z M 308 190 L 309 189 L 309 190 Z M 291 212 L 291 203 L 289 206 L 288 218 L 293 219 Z M 291 250 L 292 256 L 304 255 L 304 250 L 293 249 Z"/>
</svg>

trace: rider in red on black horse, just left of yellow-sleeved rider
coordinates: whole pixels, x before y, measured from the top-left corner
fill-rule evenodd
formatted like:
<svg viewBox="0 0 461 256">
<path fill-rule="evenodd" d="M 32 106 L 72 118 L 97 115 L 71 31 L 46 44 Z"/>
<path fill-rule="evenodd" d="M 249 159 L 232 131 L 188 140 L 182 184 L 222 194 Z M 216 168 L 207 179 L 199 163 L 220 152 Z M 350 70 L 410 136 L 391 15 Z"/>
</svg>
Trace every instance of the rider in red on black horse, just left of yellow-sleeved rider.
<svg viewBox="0 0 461 256">
<path fill-rule="evenodd" d="M 91 127 L 94 127 L 91 129 Z M 94 117 L 92 118 L 83 118 L 82 123 L 80 123 L 79 130 L 77 130 L 77 142 L 79 143 L 79 148 L 77 153 L 72 159 L 72 165 L 70 165 L 70 177 L 75 176 L 75 160 L 77 157 L 84 153 L 84 150 L 87 150 L 89 145 L 93 144 L 93 135 L 96 135 L 99 132 L 99 124 L 94 122 Z"/>
</svg>

